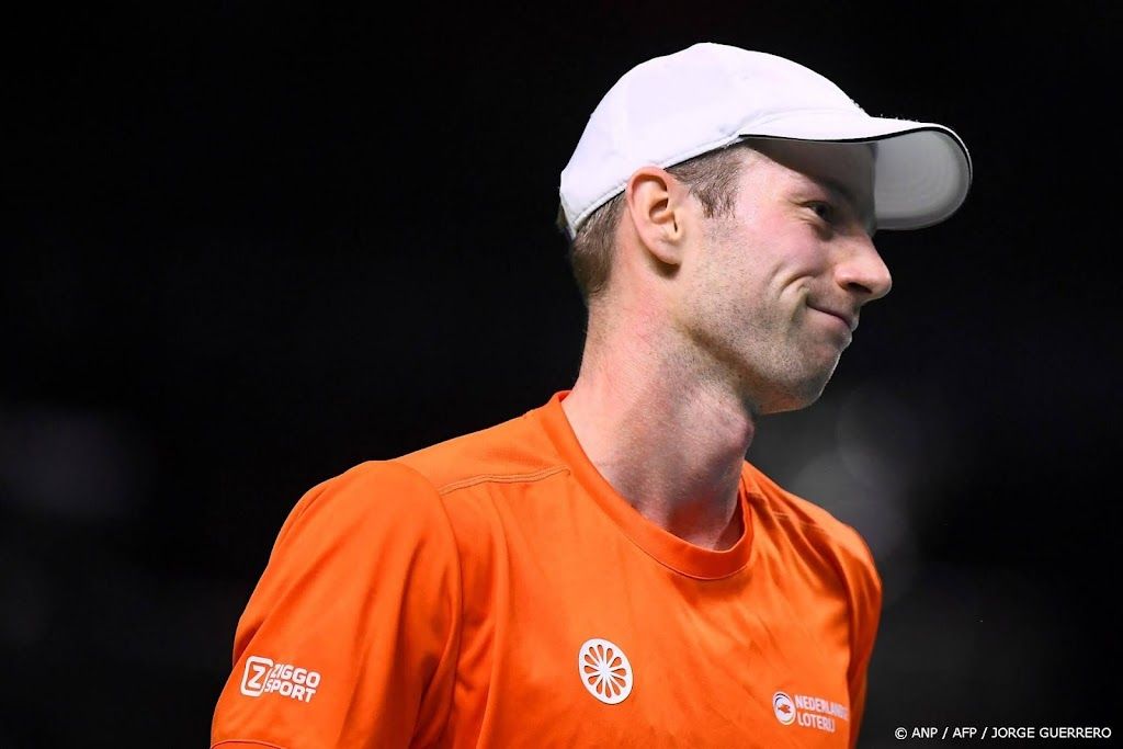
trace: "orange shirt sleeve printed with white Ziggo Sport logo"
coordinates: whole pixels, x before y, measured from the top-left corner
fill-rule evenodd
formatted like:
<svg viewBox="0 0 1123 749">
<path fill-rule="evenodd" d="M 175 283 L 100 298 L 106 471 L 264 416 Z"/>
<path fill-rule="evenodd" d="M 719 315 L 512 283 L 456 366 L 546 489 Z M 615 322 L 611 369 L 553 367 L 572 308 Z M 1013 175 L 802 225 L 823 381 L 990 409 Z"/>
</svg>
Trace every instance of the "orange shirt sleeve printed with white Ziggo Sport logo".
<svg viewBox="0 0 1123 749">
<path fill-rule="evenodd" d="M 211 746 L 437 740 L 460 630 L 456 541 L 417 472 L 365 463 L 312 488 L 238 622 Z"/>
</svg>

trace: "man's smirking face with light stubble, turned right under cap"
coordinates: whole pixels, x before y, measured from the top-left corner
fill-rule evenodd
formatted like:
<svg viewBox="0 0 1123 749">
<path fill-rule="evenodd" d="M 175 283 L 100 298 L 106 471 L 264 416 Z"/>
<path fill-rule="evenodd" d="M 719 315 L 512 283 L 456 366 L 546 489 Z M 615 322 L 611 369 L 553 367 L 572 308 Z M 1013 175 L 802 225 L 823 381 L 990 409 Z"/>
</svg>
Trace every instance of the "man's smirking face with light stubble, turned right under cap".
<svg viewBox="0 0 1123 749">
<path fill-rule="evenodd" d="M 761 141 L 761 150 L 742 155 L 732 216 L 701 219 L 676 318 L 703 371 L 770 413 L 820 396 L 859 308 L 888 293 L 891 278 L 871 240 L 867 146 Z"/>
</svg>

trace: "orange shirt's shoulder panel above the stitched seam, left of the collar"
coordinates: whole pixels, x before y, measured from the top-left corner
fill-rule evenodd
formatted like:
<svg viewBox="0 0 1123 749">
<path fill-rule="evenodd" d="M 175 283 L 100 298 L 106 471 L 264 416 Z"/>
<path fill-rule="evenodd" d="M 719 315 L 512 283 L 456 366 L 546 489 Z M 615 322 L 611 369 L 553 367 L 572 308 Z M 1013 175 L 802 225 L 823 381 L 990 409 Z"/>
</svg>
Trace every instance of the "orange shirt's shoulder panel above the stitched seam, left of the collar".
<svg viewBox="0 0 1123 749">
<path fill-rule="evenodd" d="M 539 423 L 539 409 L 485 429 L 393 458 L 426 479 L 440 494 L 481 481 L 531 478 L 562 463 Z"/>
</svg>

